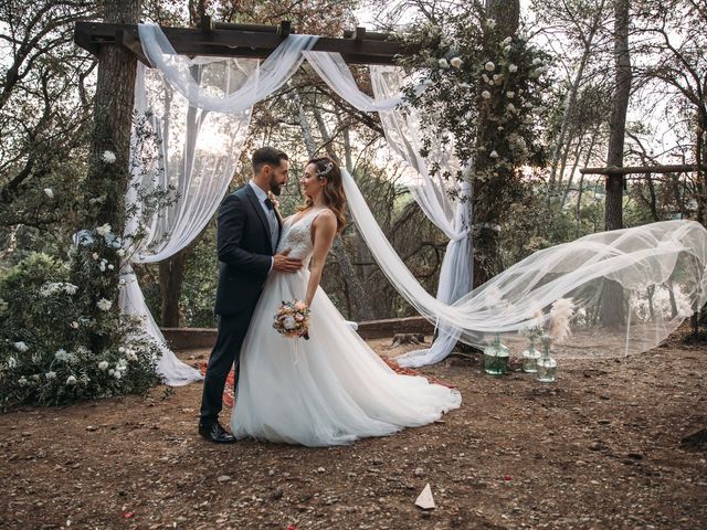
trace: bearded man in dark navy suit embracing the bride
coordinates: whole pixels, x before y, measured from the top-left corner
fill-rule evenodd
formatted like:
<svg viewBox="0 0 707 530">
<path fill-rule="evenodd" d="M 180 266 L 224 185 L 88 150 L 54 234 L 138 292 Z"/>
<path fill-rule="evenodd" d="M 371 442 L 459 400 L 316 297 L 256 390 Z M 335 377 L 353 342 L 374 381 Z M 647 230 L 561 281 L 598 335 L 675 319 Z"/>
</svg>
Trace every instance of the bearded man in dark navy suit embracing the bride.
<svg viewBox="0 0 707 530">
<path fill-rule="evenodd" d="M 287 183 L 287 155 L 262 147 L 253 153 L 252 161 L 252 180 L 225 198 L 218 216 L 219 329 L 203 381 L 199 434 L 219 444 L 235 442 L 219 423 L 223 388 L 234 363 L 238 384 L 241 344 L 265 278 L 272 271 L 294 273 L 302 267 L 300 259 L 287 257 L 288 248 L 275 254 L 281 221 L 267 197 L 268 191 L 279 195 Z"/>
</svg>

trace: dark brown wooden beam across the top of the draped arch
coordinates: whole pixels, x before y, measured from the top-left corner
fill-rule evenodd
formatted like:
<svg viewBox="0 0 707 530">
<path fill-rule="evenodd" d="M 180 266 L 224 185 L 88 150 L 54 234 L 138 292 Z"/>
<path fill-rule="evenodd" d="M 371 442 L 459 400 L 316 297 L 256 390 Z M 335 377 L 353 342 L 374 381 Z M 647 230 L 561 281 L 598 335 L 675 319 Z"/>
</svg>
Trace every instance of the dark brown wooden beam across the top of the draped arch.
<svg viewBox="0 0 707 530">
<path fill-rule="evenodd" d="M 232 24 L 214 22 L 211 17 L 204 17 L 199 28 L 162 28 L 162 31 L 180 55 L 255 59 L 267 57 L 287 35 L 296 33 L 289 21 L 278 25 Z M 77 22 L 74 42 L 94 55 L 101 46 L 122 45 L 150 66 L 135 24 Z M 340 53 L 350 64 L 394 64 L 397 56 L 413 53 L 391 35 L 368 32 L 366 28 L 345 31 L 339 39 L 320 36 L 312 50 Z"/>
</svg>

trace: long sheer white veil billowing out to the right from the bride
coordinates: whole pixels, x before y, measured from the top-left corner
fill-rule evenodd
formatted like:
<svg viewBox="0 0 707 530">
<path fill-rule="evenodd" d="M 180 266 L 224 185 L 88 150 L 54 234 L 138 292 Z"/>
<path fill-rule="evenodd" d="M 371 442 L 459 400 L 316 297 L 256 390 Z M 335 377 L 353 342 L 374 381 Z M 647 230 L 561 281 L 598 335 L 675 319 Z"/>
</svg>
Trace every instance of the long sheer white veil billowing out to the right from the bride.
<svg viewBox="0 0 707 530">
<path fill-rule="evenodd" d="M 546 248 L 444 304 L 405 267 L 352 177 L 346 170 L 342 177 L 351 216 L 390 282 L 421 315 L 457 330 L 468 344 L 484 347 L 494 333 L 523 341 L 518 331 L 535 324 L 538 308 L 547 320 L 555 300 L 571 297 L 579 308 L 574 335 L 560 356 L 637 353 L 657 346 L 707 300 L 707 230 L 694 221 L 666 221 Z M 624 308 L 602 328 L 609 286 L 621 286 Z"/>
</svg>

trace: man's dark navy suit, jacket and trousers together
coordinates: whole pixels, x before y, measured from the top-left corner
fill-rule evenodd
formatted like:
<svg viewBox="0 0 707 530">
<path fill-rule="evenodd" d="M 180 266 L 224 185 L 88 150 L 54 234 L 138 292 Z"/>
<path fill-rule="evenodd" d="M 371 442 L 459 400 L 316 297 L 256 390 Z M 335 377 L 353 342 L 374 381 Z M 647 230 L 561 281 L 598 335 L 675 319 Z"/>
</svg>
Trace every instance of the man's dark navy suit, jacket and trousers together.
<svg viewBox="0 0 707 530">
<path fill-rule="evenodd" d="M 223 406 L 225 380 L 234 364 L 238 383 L 241 344 L 275 251 L 271 243 L 267 218 L 250 184 L 231 193 L 221 203 L 217 247 L 219 285 L 214 310 L 219 316 L 219 335 L 203 381 L 202 425 L 217 421 Z M 275 309 L 273 308 L 273 315 Z"/>
</svg>

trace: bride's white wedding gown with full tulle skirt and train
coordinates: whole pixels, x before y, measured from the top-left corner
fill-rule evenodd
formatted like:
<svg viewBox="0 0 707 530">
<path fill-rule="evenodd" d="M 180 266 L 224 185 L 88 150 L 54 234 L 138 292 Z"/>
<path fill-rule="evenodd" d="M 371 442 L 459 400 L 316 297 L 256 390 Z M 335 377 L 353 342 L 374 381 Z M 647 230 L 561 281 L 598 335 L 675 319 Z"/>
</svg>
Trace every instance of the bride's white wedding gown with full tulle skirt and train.
<svg viewBox="0 0 707 530">
<path fill-rule="evenodd" d="M 458 409 L 456 390 L 422 377 L 400 375 L 354 331 L 317 288 L 309 340 L 281 336 L 273 321 L 283 301 L 304 300 L 312 257 L 312 223 L 321 210 L 288 218 L 277 251 L 292 248 L 305 266 L 267 277 L 241 349 L 231 430 L 253 437 L 312 447 L 349 444 L 425 425 Z"/>
</svg>

